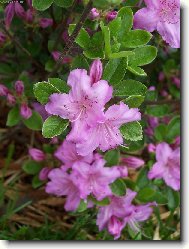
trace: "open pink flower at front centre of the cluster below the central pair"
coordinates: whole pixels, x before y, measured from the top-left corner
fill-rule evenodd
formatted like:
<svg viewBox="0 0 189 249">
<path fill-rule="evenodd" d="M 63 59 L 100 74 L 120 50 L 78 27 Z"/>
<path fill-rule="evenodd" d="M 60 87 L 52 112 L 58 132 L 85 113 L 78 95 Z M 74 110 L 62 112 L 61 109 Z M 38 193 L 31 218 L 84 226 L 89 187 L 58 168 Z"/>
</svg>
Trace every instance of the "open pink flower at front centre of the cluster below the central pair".
<svg viewBox="0 0 189 249">
<path fill-rule="evenodd" d="M 93 194 L 100 201 L 112 194 L 109 184 L 120 177 L 120 171 L 116 166 L 104 167 L 105 163 L 105 160 L 99 159 L 92 165 L 85 162 L 77 162 L 73 165 L 72 179 L 82 199 Z"/>
</svg>

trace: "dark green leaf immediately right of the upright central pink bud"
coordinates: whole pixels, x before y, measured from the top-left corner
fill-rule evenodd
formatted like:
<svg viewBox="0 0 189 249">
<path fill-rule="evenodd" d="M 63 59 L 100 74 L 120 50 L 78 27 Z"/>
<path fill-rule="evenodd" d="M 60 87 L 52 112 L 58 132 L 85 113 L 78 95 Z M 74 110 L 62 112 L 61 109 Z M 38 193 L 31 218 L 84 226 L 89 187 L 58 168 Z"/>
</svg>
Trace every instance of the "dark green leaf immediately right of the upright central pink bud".
<svg viewBox="0 0 189 249">
<path fill-rule="evenodd" d="M 113 59 L 106 64 L 102 78 L 113 86 L 117 85 L 125 76 L 127 59 Z"/>
</svg>

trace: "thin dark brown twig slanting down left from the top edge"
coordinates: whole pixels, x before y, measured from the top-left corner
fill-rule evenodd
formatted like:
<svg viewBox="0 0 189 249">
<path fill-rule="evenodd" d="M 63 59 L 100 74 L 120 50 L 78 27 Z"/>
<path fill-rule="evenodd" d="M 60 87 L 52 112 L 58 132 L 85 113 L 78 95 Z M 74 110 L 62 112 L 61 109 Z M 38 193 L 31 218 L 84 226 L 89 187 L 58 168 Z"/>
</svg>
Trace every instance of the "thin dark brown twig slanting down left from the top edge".
<svg viewBox="0 0 189 249">
<path fill-rule="evenodd" d="M 93 0 L 90 0 L 86 6 L 86 8 L 83 11 L 83 14 L 81 15 L 72 35 L 70 36 L 70 38 L 68 39 L 63 52 L 61 53 L 61 56 L 59 57 L 59 60 L 57 61 L 54 69 L 52 70 L 52 72 L 49 74 L 49 77 L 52 77 L 60 68 L 61 66 L 61 62 L 62 60 L 65 58 L 65 56 L 67 56 L 71 50 L 71 48 L 73 47 L 74 41 L 77 37 L 77 35 L 79 34 L 79 31 L 81 30 L 83 23 L 85 22 L 88 14 L 90 13 L 91 9 L 92 9 L 92 3 Z"/>
</svg>

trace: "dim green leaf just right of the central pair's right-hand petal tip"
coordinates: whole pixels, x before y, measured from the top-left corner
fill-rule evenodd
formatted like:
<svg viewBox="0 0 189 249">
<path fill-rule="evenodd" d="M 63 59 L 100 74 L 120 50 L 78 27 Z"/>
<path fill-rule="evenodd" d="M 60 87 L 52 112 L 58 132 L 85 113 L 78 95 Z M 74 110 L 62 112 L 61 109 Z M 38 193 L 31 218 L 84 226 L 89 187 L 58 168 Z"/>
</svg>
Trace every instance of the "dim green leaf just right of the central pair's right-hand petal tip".
<svg viewBox="0 0 189 249">
<path fill-rule="evenodd" d="M 147 106 L 146 114 L 154 117 L 163 117 L 167 114 L 170 114 L 170 108 L 168 105 Z"/>
</svg>

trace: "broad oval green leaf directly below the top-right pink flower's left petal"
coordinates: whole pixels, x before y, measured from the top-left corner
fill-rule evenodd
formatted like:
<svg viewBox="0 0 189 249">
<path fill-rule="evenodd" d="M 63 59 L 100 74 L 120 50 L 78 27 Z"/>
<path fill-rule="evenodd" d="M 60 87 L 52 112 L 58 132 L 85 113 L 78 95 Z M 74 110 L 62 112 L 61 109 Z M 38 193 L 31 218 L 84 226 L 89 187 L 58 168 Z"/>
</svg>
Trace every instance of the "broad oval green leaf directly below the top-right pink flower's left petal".
<svg viewBox="0 0 189 249">
<path fill-rule="evenodd" d="M 131 30 L 126 33 L 121 43 L 122 48 L 136 48 L 146 45 L 152 38 L 145 30 Z"/>
</svg>

